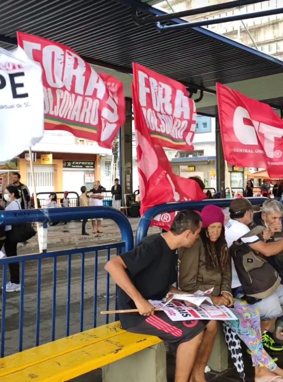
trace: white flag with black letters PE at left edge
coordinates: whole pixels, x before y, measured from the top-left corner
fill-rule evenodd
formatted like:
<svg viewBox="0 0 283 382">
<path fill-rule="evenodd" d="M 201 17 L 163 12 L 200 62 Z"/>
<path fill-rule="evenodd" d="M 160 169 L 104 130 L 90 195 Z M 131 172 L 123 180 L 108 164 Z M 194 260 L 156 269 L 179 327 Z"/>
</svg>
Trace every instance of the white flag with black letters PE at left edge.
<svg viewBox="0 0 283 382">
<path fill-rule="evenodd" d="M 42 69 L 20 47 L 0 48 L 0 161 L 33 146 L 44 134 Z"/>
</svg>

